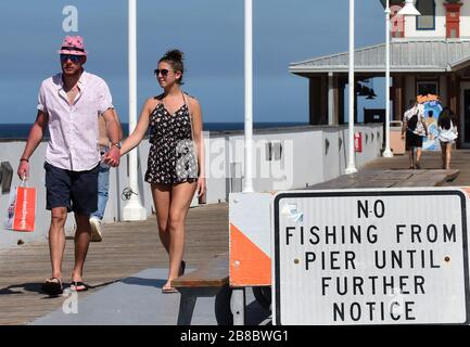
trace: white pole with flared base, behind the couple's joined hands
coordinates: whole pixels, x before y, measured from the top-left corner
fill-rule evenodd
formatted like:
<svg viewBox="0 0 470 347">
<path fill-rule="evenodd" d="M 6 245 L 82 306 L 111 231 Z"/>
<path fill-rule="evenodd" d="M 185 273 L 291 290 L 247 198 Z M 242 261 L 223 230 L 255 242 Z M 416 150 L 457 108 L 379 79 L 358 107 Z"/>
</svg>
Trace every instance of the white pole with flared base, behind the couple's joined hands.
<svg viewBox="0 0 470 347">
<path fill-rule="evenodd" d="M 128 0 L 129 5 L 129 134 L 137 125 L 137 0 Z M 145 220 L 147 209 L 140 202 L 137 179 L 137 149 L 128 154 L 129 187 L 136 194 L 123 208 L 123 220 Z"/>
</svg>

